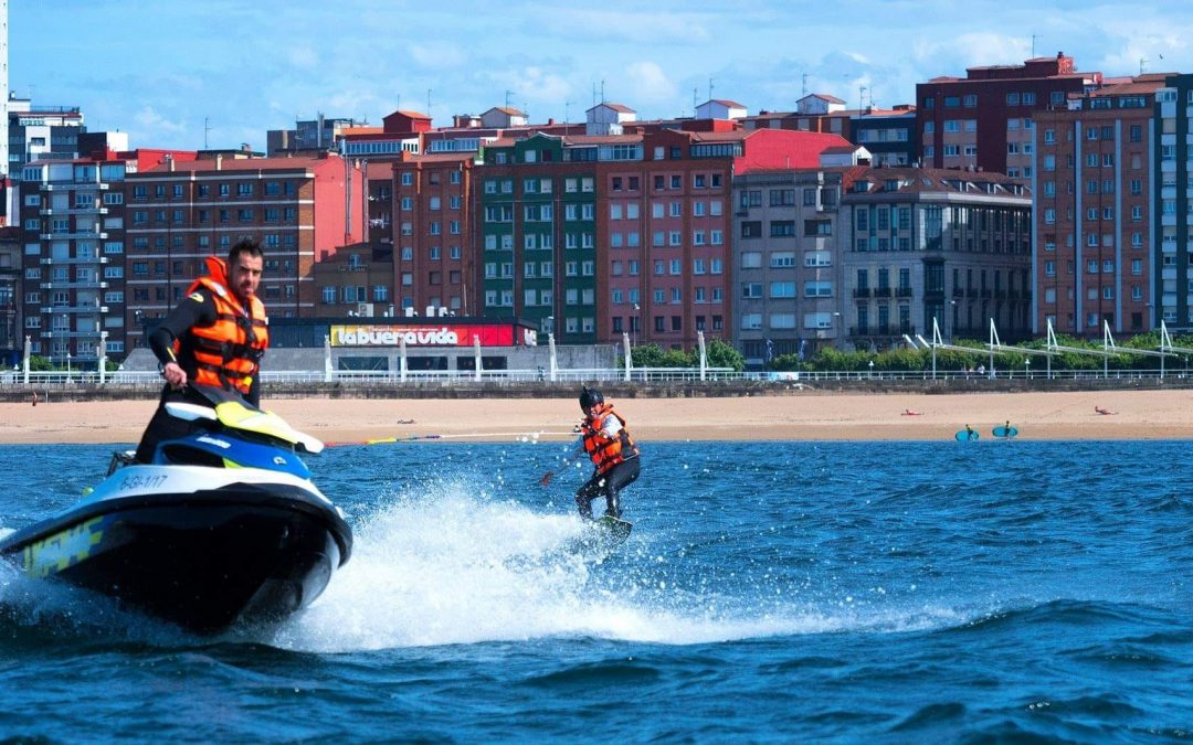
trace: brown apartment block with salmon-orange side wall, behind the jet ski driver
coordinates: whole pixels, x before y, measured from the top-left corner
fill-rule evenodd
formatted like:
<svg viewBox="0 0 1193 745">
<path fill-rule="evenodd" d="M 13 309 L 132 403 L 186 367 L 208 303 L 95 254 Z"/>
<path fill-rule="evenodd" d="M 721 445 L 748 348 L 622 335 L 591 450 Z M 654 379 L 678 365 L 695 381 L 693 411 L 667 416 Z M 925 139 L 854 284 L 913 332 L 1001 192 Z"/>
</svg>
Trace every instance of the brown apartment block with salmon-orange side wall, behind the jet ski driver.
<svg viewBox="0 0 1193 745">
<path fill-rule="evenodd" d="M 315 312 L 313 266 L 365 234 L 364 173 L 334 154 L 180 161 L 129 174 L 126 273 L 129 306 L 162 317 L 181 299 L 204 259 L 225 255 L 243 237 L 265 248 L 259 294 L 271 316 Z M 135 346 L 143 340 L 132 340 Z"/>
</svg>

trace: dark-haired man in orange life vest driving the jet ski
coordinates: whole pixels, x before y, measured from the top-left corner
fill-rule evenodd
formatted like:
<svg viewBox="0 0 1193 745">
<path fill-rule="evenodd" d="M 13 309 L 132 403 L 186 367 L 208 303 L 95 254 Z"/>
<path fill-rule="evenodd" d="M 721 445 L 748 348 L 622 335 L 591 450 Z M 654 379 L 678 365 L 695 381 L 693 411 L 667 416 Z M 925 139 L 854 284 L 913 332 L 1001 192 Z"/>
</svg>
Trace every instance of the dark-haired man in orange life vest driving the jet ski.
<svg viewBox="0 0 1193 745">
<path fill-rule="evenodd" d="M 168 402 L 210 406 L 187 384 L 235 391 L 252 406 L 261 397 L 258 375 L 270 346 L 268 318 L 256 297 L 265 254 L 261 244 L 243 240 L 227 262 L 209 256 L 208 275 L 194 280 L 187 297 L 149 335 L 166 385 L 157 410 L 137 446 L 136 460 L 150 462 L 157 443 L 193 432 L 196 424 L 166 411 Z"/>
</svg>

